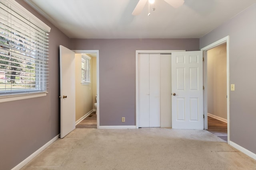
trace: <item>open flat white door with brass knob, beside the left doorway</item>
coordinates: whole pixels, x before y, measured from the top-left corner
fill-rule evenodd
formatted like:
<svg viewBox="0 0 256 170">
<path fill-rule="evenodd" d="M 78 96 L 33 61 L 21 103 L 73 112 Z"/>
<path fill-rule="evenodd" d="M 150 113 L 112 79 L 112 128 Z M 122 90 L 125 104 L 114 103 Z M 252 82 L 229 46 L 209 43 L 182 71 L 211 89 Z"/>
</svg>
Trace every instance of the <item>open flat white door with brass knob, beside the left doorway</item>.
<svg viewBox="0 0 256 170">
<path fill-rule="evenodd" d="M 60 138 L 76 128 L 75 53 L 60 45 Z"/>
</svg>

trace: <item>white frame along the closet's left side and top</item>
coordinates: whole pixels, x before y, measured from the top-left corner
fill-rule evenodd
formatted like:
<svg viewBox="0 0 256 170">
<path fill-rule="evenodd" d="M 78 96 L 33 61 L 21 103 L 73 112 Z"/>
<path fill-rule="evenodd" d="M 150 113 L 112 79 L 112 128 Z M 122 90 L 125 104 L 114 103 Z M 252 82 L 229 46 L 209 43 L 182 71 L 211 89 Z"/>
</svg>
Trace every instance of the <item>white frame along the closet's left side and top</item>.
<svg viewBox="0 0 256 170">
<path fill-rule="evenodd" d="M 138 72 L 138 56 L 139 54 L 171 54 L 175 51 L 186 50 L 136 50 L 136 129 L 139 128 L 139 72 Z"/>
</svg>

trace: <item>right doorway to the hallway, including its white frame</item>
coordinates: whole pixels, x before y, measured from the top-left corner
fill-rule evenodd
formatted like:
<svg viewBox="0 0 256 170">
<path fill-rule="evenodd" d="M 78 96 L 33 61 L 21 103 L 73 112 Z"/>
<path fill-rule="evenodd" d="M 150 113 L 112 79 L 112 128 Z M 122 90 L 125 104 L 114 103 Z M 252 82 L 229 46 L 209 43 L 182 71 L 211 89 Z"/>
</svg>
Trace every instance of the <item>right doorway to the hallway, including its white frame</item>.
<svg viewBox="0 0 256 170">
<path fill-rule="evenodd" d="M 229 143 L 229 37 L 204 53 L 204 129 Z"/>
</svg>

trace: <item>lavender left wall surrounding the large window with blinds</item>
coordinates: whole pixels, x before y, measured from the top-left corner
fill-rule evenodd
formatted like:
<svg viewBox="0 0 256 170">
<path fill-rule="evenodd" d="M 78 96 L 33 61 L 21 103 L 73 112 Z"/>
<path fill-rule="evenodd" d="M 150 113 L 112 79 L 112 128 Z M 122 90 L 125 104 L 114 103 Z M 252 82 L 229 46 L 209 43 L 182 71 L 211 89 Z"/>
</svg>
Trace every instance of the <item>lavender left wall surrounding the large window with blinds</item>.
<svg viewBox="0 0 256 170">
<path fill-rule="evenodd" d="M 70 39 L 23 0 L 16 0 L 51 27 L 49 93 L 45 97 L 0 103 L 0 170 L 9 170 L 59 134 L 58 46 Z"/>
</svg>

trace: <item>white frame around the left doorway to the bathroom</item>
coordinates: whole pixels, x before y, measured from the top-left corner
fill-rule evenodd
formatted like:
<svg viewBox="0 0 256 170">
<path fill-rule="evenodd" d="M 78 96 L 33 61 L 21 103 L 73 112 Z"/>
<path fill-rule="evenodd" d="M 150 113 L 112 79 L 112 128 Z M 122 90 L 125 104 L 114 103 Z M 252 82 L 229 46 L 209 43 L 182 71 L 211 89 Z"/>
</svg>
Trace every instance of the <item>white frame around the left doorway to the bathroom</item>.
<svg viewBox="0 0 256 170">
<path fill-rule="evenodd" d="M 96 79 L 97 79 L 97 128 L 100 126 L 100 71 L 99 71 L 99 50 L 72 50 L 75 53 L 96 53 Z"/>
</svg>

